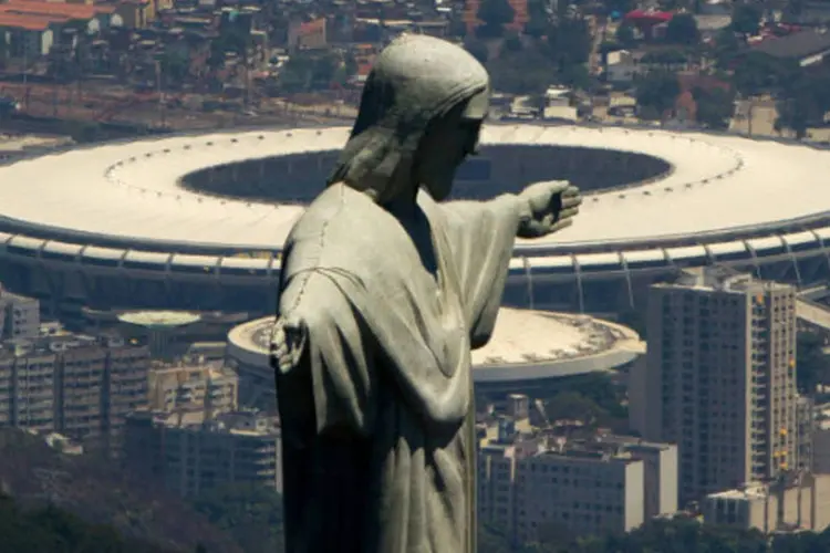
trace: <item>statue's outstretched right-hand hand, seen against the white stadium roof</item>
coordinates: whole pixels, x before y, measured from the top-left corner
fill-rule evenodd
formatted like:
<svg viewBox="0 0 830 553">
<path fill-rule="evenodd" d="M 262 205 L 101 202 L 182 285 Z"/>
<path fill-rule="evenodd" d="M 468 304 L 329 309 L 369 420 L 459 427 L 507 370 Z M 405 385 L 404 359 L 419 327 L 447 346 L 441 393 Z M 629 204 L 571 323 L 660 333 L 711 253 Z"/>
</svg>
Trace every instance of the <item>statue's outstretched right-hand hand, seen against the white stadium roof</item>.
<svg viewBox="0 0 830 553">
<path fill-rule="evenodd" d="M 564 180 L 530 185 L 519 199 L 527 206 L 517 232 L 519 238 L 539 238 L 570 227 L 582 204 L 579 188 Z"/>
</svg>

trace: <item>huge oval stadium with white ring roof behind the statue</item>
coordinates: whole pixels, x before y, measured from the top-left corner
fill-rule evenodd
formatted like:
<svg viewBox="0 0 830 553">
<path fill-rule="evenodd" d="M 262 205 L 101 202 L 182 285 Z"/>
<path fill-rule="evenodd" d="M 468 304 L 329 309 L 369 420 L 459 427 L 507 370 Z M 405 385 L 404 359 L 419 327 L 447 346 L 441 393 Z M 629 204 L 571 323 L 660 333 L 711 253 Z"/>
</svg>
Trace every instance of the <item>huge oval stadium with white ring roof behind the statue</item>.
<svg viewBox="0 0 830 553">
<path fill-rule="evenodd" d="M 280 250 L 349 128 L 167 135 L 0 166 L 0 280 L 64 317 L 84 310 L 272 312 Z M 828 276 L 830 153 L 738 136 L 488 125 L 458 198 L 568 179 L 577 223 L 519 241 L 505 303 L 612 313 L 678 268 Z"/>
</svg>

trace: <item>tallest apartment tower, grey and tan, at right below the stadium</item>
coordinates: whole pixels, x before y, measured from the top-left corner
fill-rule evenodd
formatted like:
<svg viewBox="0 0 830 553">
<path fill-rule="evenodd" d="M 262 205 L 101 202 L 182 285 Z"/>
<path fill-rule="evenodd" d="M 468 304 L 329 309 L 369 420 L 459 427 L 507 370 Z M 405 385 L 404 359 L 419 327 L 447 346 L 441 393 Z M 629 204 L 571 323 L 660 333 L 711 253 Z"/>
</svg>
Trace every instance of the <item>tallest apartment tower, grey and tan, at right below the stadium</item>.
<svg viewBox="0 0 830 553">
<path fill-rule="evenodd" d="M 651 288 L 632 421 L 677 444 L 681 501 L 799 465 L 796 291 L 723 268 Z"/>
</svg>

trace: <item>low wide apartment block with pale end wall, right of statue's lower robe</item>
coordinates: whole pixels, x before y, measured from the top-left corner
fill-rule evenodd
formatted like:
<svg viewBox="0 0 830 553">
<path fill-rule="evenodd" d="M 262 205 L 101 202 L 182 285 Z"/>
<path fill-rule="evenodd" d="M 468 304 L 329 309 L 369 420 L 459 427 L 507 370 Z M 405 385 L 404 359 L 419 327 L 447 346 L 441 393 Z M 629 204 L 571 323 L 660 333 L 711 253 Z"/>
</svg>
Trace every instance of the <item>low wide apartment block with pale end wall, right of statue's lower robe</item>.
<svg viewBox="0 0 830 553">
<path fill-rule="evenodd" d="M 626 532 L 677 510 L 677 449 L 637 438 L 521 437 L 501 430 L 479 450 L 479 521 L 513 543 Z"/>
</svg>

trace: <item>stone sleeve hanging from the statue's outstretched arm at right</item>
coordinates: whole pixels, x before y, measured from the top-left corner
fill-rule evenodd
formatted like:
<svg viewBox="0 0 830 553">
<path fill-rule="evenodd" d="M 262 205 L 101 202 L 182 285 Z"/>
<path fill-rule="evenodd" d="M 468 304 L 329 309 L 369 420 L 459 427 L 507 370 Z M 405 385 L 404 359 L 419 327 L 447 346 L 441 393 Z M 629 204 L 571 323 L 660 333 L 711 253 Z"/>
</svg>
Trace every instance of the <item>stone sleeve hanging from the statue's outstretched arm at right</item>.
<svg viewBox="0 0 830 553">
<path fill-rule="evenodd" d="M 443 204 L 449 249 L 475 349 L 490 340 L 519 228 L 519 201 L 504 195 L 490 201 Z"/>
</svg>

